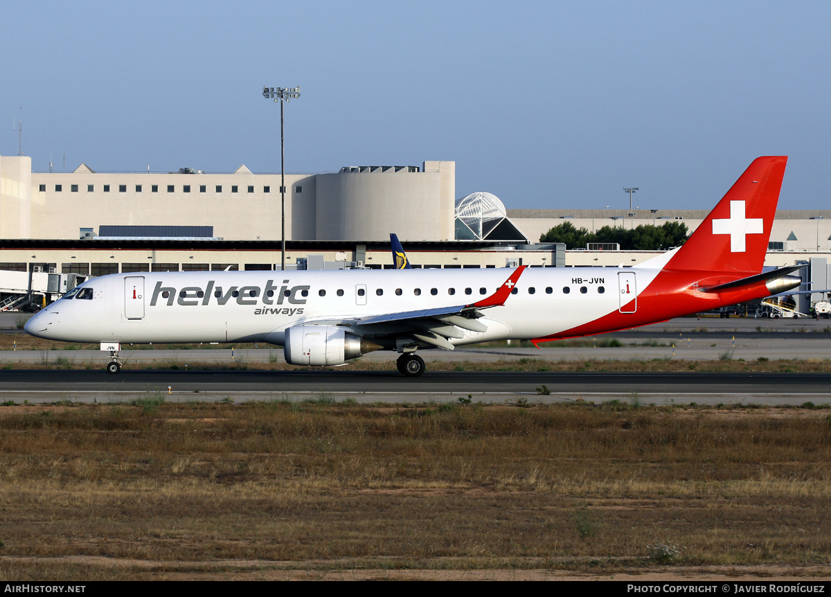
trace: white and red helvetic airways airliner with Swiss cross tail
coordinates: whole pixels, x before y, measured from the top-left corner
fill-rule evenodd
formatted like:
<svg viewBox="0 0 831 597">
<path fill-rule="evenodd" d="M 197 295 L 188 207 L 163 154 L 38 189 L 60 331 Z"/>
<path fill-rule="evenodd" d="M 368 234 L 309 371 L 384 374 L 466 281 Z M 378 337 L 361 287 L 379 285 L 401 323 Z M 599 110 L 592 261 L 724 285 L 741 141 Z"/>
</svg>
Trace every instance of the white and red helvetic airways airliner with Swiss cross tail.
<svg viewBox="0 0 831 597">
<path fill-rule="evenodd" d="M 761 273 L 787 157 L 760 157 L 681 247 L 637 267 L 154 272 L 91 279 L 29 320 L 33 336 L 101 343 L 261 342 L 288 363 L 612 332 L 778 294 L 801 266 Z"/>
</svg>

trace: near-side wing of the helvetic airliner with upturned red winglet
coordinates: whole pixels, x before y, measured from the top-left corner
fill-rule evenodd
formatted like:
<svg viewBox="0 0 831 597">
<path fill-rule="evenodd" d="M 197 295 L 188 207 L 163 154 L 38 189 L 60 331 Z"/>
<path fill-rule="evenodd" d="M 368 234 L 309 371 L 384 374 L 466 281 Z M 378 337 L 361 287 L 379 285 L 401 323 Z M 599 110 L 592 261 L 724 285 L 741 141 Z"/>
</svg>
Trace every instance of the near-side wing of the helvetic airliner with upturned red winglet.
<svg viewBox="0 0 831 597">
<path fill-rule="evenodd" d="M 464 338 L 465 333 L 461 329 L 471 332 L 487 331 L 488 327 L 484 323 L 476 321 L 482 317 L 479 309 L 503 305 L 526 267 L 520 265 L 494 294 L 475 303 L 370 315 L 354 319 L 350 325 L 356 328 L 356 331 L 366 333 L 374 333 L 373 328 L 380 333 L 383 333 L 384 328 L 391 328 L 396 330 L 396 335 L 406 334 L 422 343 L 453 350 L 454 346 L 449 338 Z"/>
</svg>

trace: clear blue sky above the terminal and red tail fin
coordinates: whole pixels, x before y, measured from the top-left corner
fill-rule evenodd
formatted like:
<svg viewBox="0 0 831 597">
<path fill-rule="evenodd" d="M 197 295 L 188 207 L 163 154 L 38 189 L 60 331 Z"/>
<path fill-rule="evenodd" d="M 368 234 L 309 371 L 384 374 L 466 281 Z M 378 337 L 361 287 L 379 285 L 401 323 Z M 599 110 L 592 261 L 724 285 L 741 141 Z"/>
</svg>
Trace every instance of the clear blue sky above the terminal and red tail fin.
<svg viewBox="0 0 831 597">
<path fill-rule="evenodd" d="M 4 2 L 34 170 L 455 160 L 509 208 L 707 209 L 758 155 L 831 208 L 831 2 Z"/>
</svg>

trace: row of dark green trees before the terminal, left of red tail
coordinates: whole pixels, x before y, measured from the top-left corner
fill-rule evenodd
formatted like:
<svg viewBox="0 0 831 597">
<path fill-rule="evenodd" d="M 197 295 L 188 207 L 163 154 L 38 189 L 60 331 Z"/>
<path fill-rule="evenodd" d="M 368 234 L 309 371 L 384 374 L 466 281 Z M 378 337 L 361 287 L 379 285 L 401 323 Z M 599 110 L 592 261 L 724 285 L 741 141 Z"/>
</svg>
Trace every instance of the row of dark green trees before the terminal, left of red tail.
<svg viewBox="0 0 831 597">
<path fill-rule="evenodd" d="M 686 224 L 665 222 L 661 226 L 641 224 L 637 228 L 603 226 L 597 232 L 576 228 L 571 222 L 554 226 L 539 237 L 541 243 L 565 243 L 566 249 L 585 249 L 588 243 L 617 243 L 626 251 L 654 251 L 684 244 Z"/>
</svg>

